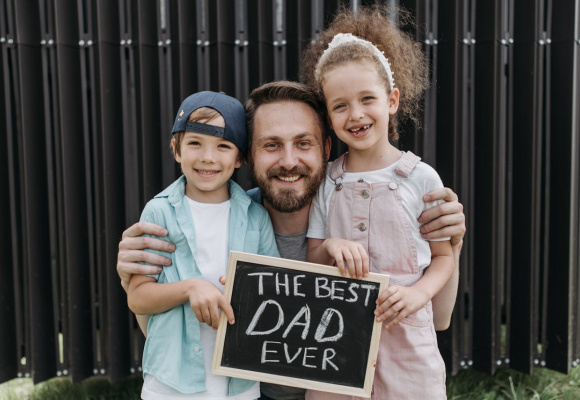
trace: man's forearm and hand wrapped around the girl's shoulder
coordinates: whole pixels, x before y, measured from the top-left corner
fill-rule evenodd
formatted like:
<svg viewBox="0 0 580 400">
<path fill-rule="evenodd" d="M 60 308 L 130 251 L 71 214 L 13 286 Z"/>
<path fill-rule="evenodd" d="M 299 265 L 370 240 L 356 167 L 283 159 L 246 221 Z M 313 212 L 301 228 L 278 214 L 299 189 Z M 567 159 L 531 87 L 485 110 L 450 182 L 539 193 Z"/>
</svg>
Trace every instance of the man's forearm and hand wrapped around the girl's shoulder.
<svg viewBox="0 0 580 400">
<path fill-rule="evenodd" d="M 431 207 L 419 216 L 421 234 L 424 239 L 440 239 L 451 237 L 453 250 L 454 269 L 451 278 L 435 297 L 433 297 L 433 323 L 436 330 L 446 330 L 451 324 L 451 315 L 457 298 L 459 286 L 459 255 L 463 246 L 465 235 L 465 215 L 463 205 L 458 201 L 457 195 L 449 188 L 436 189 L 425 196 L 425 202 L 445 200 Z"/>
</svg>

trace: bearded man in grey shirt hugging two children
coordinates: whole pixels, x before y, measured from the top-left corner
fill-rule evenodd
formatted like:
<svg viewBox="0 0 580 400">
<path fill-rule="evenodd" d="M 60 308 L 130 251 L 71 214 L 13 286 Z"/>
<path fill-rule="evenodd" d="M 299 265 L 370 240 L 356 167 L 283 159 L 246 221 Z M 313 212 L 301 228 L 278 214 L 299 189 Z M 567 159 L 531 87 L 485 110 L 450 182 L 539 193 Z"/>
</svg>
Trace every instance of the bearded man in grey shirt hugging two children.
<svg viewBox="0 0 580 400">
<path fill-rule="evenodd" d="M 248 117 L 248 165 L 258 188 L 248 192 L 268 211 L 276 243 L 284 258 L 306 259 L 310 203 L 325 177 L 330 138 L 322 105 L 307 86 L 296 82 L 272 82 L 252 91 L 246 102 Z M 419 222 L 425 239 L 451 236 L 455 272 L 433 299 L 436 329 L 447 329 L 457 295 L 459 252 L 465 234 L 465 216 L 457 196 L 444 188 L 427 193 L 425 201 L 445 200 L 423 212 Z M 165 229 L 137 223 L 123 233 L 119 243 L 117 272 L 125 290 L 133 274 L 154 274 L 170 260 L 143 249 L 172 252 L 175 246 L 143 234 L 165 236 Z M 139 264 L 145 261 L 154 265 Z M 304 390 L 262 384 L 262 399 L 303 399 Z"/>
</svg>

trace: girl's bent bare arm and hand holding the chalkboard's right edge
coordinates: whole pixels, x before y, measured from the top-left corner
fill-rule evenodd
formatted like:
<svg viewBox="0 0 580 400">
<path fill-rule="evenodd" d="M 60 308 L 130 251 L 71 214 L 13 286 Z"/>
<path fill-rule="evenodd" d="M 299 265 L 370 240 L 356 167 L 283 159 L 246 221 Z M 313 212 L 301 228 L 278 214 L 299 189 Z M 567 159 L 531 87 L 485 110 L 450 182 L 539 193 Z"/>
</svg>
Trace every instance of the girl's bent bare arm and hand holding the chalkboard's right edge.
<svg viewBox="0 0 580 400">
<path fill-rule="evenodd" d="M 449 241 L 429 242 L 431 264 L 413 286 L 393 285 L 384 290 L 377 299 L 377 321 L 386 321 L 388 329 L 401 322 L 407 315 L 423 308 L 449 281 L 455 269 L 453 251 Z"/>
</svg>

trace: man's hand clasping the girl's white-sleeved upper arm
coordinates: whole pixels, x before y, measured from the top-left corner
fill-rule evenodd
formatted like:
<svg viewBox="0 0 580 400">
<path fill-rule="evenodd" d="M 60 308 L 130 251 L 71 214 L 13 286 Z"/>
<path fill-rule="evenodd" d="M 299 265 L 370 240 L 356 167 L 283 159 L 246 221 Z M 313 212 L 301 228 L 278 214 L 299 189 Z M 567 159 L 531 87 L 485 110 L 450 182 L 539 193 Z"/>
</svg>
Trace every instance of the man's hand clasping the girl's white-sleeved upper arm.
<svg viewBox="0 0 580 400">
<path fill-rule="evenodd" d="M 423 200 L 445 200 L 445 203 L 431 207 L 419 216 L 423 238 L 431 240 L 450 236 L 452 246 L 460 244 L 465 235 L 465 215 L 455 192 L 449 188 L 436 189 L 423 196 Z"/>
</svg>

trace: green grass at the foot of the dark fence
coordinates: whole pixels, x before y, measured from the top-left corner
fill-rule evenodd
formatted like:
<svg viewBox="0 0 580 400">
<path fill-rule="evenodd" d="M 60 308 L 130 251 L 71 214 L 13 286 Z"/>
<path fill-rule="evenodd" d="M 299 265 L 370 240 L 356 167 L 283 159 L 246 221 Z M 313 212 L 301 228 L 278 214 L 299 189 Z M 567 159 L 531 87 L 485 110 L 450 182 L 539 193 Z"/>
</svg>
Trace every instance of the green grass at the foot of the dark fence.
<svg viewBox="0 0 580 400">
<path fill-rule="evenodd" d="M 72 384 L 68 378 L 54 378 L 33 385 L 30 379 L 0 384 L 0 400 L 131 400 L 139 399 L 142 380 L 128 378 L 110 384 L 91 378 Z M 449 400 L 577 400 L 580 399 L 580 367 L 564 375 L 539 368 L 531 375 L 500 369 L 494 376 L 474 370 L 461 371 L 447 380 Z"/>
</svg>

